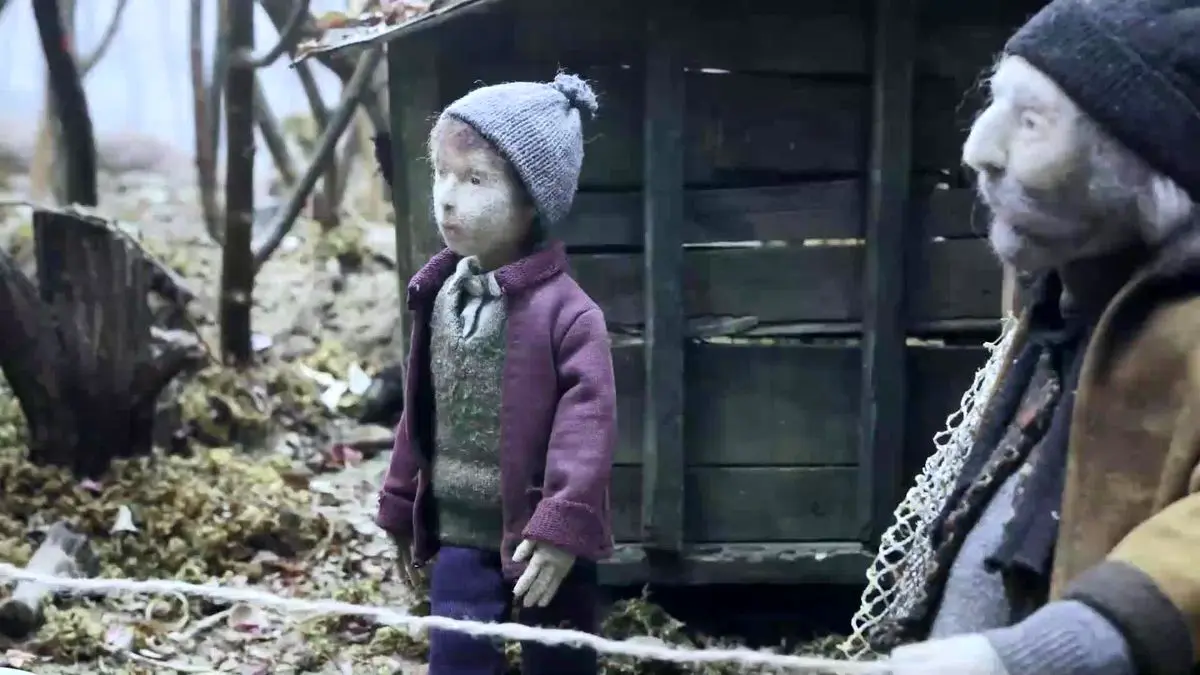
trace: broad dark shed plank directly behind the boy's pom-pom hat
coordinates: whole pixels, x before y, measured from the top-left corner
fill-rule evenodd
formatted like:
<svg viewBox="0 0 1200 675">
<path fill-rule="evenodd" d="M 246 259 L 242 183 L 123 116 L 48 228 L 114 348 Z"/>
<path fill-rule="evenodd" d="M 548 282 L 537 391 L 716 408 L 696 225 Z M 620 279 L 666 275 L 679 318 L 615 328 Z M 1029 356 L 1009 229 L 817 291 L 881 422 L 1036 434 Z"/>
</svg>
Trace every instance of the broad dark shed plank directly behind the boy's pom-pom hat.
<svg viewBox="0 0 1200 675">
<path fill-rule="evenodd" d="M 545 80 L 558 68 L 592 80 L 600 112 L 584 125 L 581 185 L 637 190 L 642 180 L 643 86 L 636 68 L 571 61 L 482 62 L 452 68 L 443 102 L 480 84 Z M 684 175 L 695 186 L 778 184 L 864 169 L 869 88 L 845 79 L 764 74 L 686 76 Z"/>
</svg>

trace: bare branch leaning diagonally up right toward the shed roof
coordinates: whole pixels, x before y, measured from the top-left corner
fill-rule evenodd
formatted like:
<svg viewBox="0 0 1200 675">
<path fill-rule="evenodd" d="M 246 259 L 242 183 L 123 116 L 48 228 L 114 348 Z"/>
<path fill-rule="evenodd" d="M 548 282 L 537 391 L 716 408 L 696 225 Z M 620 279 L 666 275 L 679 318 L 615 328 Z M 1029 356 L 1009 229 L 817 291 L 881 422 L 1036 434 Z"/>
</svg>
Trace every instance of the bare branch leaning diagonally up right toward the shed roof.
<svg viewBox="0 0 1200 675">
<path fill-rule="evenodd" d="M 350 121 L 354 120 L 354 110 L 359 104 L 359 97 L 362 95 L 362 90 L 371 80 L 382 60 L 383 49 L 379 47 L 371 47 L 359 59 L 350 80 L 342 90 L 342 100 L 334 113 L 334 119 L 330 120 L 329 126 L 322 132 L 320 141 L 317 143 L 317 151 L 308 159 L 308 166 L 305 168 L 300 181 L 292 186 L 292 192 L 288 195 L 287 202 L 271 219 L 266 239 L 254 250 L 256 273 L 262 269 L 263 263 L 270 259 L 271 255 L 288 235 L 288 232 L 292 231 L 292 226 L 295 225 L 296 216 L 300 215 L 308 193 L 322 174 L 322 167 L 329 162 L 337 148 L 338 139 L 346 132 Z"/>
</svg>

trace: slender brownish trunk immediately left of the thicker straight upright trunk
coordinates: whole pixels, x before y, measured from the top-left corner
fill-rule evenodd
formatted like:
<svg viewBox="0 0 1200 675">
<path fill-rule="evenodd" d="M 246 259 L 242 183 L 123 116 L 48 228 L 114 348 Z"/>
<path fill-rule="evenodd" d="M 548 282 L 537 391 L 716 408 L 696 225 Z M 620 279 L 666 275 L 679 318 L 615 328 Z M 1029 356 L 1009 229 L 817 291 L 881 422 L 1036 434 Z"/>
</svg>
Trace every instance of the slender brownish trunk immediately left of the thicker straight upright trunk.
<svg viewBox="0 0 1200 675">
<path fill-rule="evenodd" d="M 217 147 L 212 138 L 211 129 L 220 126 L 220 120 L 214 121 L 211 96 L 216 92 L 205 83 L 204 78 L 204 37 L 203 37 L 203 11 L 204 0 L 192 0 L 190 28 L 188 28 L 188 53 L 192 70 L 192 115 L 196 127 L 196 174 L 200 192 L 200 211 L 204 217 L 204 228 L 214 241 L 223 239 L 221 231 L 221 209 L 217 205 Z M 217 31 L 222 28 L 218 25 Z"/>
</svg>

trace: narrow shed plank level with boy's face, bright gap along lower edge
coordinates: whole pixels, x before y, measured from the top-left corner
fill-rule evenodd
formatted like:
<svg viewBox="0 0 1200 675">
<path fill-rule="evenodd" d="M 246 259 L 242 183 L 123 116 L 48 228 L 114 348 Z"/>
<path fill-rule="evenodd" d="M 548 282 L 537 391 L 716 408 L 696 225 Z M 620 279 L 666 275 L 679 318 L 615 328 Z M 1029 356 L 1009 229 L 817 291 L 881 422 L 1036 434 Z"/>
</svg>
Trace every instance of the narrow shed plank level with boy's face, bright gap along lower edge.
<svg viewBox="0 0 1200 675">
<path fill-rule="evenodd" d="M 864 192 L 858 179 L 688 190 L 683 238 L 688 244 L 860 238 Z M 644 231 L 641 199 L 640 192 L 580 192 L 571 215 L 554 234 L 568 246 L 640 247 Z M 912 201 L 910 229 L 919 227 L 923 237 L 988 234 L 988 210 L 970 189 L 918 181 Z"/>
</svg>

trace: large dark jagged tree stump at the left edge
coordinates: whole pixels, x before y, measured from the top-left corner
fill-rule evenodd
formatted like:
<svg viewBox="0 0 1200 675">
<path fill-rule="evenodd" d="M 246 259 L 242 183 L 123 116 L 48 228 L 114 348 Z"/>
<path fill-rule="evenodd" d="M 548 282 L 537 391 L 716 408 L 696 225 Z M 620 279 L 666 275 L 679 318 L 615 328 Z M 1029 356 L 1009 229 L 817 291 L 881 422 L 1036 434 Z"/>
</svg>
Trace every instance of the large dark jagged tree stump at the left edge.
<svg viewBox="0 0 1200 675">
<path fill-rule="evenodd" d="M 34 240 L 37 287 L 0 255 L 0 368 L 30 459 L 98 478 L 113 459 L 150 453 L 160 392 L 205 354 L 196 342 L 155 348 L 148 294 L 174 283 L 107 221 L 38 209 Z"/>
</svg>

